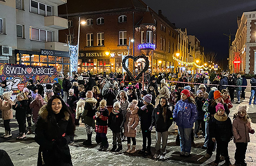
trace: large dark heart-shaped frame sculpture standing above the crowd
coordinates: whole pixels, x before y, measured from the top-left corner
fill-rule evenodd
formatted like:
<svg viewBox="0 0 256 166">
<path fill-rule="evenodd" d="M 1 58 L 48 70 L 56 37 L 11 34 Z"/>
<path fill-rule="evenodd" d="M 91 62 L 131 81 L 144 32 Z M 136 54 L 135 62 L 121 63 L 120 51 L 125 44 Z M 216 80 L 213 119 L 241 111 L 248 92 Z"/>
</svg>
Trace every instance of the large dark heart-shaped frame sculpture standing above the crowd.
<svg viewBox="0 0 256 166">
<path fill-rule="evenodd" d="M 134 77 L 132 75 L 132 73 L 128 70 L 128 68 L 125 66 L 125 62 L 128 59 L 132 59 L 133 61 L 137 61 L 138 59 L 144 59 L 145 60 L 145 67 L 142 69 L 142 71 L 137 75 L 137 77 Z M 127 72 L 128 76 L 130 78 L 132 78 L 132 81 L 137 81 L 140 77 L 142 77 L 142 74 L 145 73 L 147 71 L 147 69 L 149 68 L 149 59 L 148 57 L 146 57 L 145 55 L 138 55 L 138 56 L 132 56 L 132 55 L 128 55 L 124 57 L 124 60 L 122 62 L 123 68 L 124 70 Z"/>
</svg>

